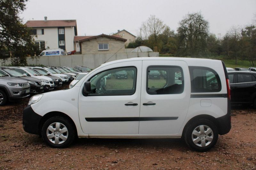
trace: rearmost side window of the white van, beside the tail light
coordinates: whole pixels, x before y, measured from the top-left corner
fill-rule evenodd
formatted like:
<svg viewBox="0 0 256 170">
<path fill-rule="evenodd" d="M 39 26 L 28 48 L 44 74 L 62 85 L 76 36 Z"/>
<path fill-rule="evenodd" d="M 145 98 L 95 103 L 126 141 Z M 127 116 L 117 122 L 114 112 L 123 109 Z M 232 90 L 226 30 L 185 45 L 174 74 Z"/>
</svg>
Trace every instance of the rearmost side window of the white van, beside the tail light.
<svg viewBox="0 0 256 170">
<path fill-rule="evenodd" d="M 220 77 L 207 67 L 189 67 L 191 92 L 220 92 Z"/>
</svg>

